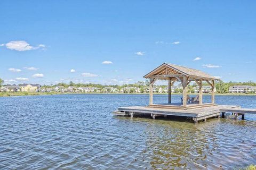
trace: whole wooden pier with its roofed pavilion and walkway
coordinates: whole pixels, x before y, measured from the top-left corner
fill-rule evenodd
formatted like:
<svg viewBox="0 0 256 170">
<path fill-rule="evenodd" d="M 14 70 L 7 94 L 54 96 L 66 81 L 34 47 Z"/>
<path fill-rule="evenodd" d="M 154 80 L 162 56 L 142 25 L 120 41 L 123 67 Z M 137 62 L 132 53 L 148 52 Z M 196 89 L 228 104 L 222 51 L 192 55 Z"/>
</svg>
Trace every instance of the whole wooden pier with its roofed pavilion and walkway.
<svg viewBox="0 0 256 170">
<path fill-rule="evenodd" d="M 225 113 L 232 113 L 235 119 L 239 115 L 242 115 L 242 119 L 244 119 L 246 113 L 256 114 L 256 109 L 215 104 L 215 80 L 220 79 L 199 70 L 163 63 L 143 78 L 150 79 L 149 105 L 120 107 L 113 114 L 131 116 L 131 118 L 133 116 L 151 116 L 153 119 L 157 116 L 182 116 L 190 117 L 195 123 L 202 120 L 206 121 L 207 118 L 220 117 L 220 113 L 221 117 L 225 117 Z M 157 80 L 168 81 L 168 103 L 166 104 L 153 103 L 153 85 Z M 180 103 L 172 103 L 171 98 L 171 86 L 176 81 L 179 81 L 183 87 L 183 97 L 181 97 Z M 192 81 L 199 86 L 199 95 L 196 97 L 187 95 L 188 84 Z M 211 86 L 211 103 L 203 103 L 203 82 Z"/>
</svg>

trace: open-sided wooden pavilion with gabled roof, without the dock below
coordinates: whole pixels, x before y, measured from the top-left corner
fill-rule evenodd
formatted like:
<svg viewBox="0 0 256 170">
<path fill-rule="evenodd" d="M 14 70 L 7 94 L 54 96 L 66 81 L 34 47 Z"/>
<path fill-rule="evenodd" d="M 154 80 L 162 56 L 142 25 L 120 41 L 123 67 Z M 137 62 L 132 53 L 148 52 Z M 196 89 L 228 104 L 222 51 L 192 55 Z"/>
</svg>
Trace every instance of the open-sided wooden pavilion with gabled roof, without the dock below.
<svg viewBox="0 0 256 170">
<path fill-rule="evenodd" d="M 149 81 L 149 107 L 172 107 L 172 108 L 187 108 L 187 107 L 205 107 L 215 105 L 215 80 L 220 80 L 202 71 L 191 69 L 185 66 L 163 63 L 153 71 L 146 74 L 143 78 L 150 79 Z M 168 81 L 168 103 L 155 105 L 153 104 L 153 84 L 156 80 Z M 183 88 L 183 103 L 171 103 L 171 87 L 174 82 L 179 81 Z M 190 82 L 196 82 L 199 86 L 199 102 L 197 104 L 188 104 L 187 91 Z M 211 86 L 211 103 L 203 104 L 203 81 Z"/>
</svg>

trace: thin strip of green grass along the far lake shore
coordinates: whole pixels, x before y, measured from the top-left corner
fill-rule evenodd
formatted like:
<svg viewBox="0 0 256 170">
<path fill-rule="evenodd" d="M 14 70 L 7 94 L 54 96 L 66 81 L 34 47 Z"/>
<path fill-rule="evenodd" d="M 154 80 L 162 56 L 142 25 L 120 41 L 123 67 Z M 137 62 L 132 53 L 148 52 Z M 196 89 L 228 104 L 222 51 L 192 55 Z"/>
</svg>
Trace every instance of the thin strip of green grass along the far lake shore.
<svg viewBox="0 0 256 170">
<path fill-rule="evenodd" d="M 70 95 L 70 94 L 108 94 L 108 93 L 100 93 L 100 92 L 0 92 L 0 97 L 9 97 L 9 96 L 38 96 L 38 95 Z M 133 94 L 124 94 L 124 93 L 109 93 L 112 95 L 141 95 L 139 93 Z M 147 95 L 148 93 L 143 93 Z M 166 93 L 154 93 L 154 95 L 167 95 Z M 175 94 L 172 95 L 182 95 Z M 197 95 L 197 94 L 188 94 L 188 95 Z M 204 94 L 211 95 L 211 94 Z M 256 96 L 256 94 L 215 94 L 220 96 Z"/>
</svg>

